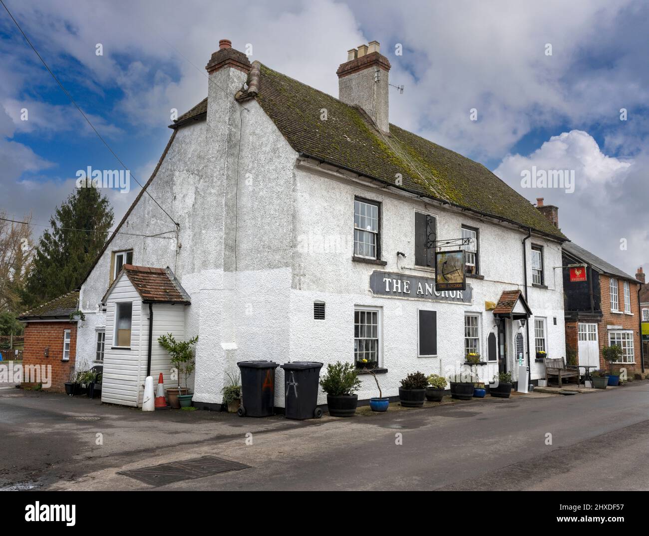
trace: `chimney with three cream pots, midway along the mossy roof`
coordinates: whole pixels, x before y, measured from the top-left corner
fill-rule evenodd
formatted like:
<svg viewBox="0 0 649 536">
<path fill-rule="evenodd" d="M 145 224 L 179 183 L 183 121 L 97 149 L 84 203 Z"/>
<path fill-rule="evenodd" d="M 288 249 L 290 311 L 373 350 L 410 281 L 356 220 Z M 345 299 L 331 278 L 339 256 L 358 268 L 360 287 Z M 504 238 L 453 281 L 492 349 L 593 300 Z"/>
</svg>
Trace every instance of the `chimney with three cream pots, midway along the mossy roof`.
<svg viewBox="0 0 649 536">
<path fill-rule="evenodd" d="M 390 62 L 379 53 L 377 41 L 347 51 L 347 62 L 336 71 L 338 98 L 350 106 L 360 106 L 376 127 L 389 132 L 388 73 Z"/>
</svg>

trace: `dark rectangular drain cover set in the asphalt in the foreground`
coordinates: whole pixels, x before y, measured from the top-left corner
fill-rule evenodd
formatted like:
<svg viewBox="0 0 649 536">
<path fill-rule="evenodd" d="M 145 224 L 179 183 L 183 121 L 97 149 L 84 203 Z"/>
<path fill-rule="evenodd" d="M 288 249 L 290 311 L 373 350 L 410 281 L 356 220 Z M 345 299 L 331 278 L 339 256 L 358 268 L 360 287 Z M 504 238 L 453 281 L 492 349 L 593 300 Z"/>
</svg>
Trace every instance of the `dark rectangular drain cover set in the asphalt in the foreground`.
<svg viewBox="0 0 649 536">
<path fill-rule="evenodd" d="M 162 486 L 180 480 L 193 480 L 194 478 L 203 478 L 204 476 L 211 476 L 219 472 L 238 471 L 249 468 L 250 465 L 244 465 L 238 461 L 230 461 L 214 456 L 202 456 L 183 461 L 162 463 L 153 467 L 144 467 L 143 469 L 118 471 L 117 474 L 130 476 L 130 478 L 135 478 L 154 486 Z"/>
</svg>

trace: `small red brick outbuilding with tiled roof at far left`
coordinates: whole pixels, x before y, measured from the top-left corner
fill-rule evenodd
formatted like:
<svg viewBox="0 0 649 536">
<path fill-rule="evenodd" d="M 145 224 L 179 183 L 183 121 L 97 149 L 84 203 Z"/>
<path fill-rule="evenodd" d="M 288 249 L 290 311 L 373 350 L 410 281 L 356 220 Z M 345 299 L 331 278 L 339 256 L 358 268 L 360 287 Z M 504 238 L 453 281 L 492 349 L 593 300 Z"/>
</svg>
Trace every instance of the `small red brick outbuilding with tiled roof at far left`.
<svg viewBox="0 0 649 536">
<path fill-rule="evenodd" d="M 65 384 L 69 382 L 69 376 L 75 369 L 77 323 L 71 322 L 69 317 L 77 310 L 78 304 L 79 291 L 72 291 L 19 317 L 20 321 L 27 324 L 23 371 L 27 371 L 29 365 L 51 365 L 50 391 L 65 391 Z M 32 386 L 37 383 L 23 382 L 21 385 Z"/>
</svg>

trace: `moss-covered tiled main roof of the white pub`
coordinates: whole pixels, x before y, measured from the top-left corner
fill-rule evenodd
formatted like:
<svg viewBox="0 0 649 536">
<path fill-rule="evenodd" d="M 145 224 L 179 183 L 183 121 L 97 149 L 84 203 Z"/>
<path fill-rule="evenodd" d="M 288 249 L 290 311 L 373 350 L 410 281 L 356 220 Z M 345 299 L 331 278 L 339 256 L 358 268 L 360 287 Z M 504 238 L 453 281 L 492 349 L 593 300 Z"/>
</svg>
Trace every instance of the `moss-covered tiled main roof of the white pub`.
<svg viewBox="0 0 649 536">
<path fill-rule="evenodd" d="M 242 96 L 256 98 L 295 151 L 412 193 L 567 239 L 484 165 L 396 125 L 384 134 L 360 108 L 264 65 L 253 64 L 256 68 L 256 94 Z M 206 101 L 197 104 L 173 127 L 201 119 L 205 106 Z M 326 121 L 321 119 L 323 108 Z"/>
</svg>

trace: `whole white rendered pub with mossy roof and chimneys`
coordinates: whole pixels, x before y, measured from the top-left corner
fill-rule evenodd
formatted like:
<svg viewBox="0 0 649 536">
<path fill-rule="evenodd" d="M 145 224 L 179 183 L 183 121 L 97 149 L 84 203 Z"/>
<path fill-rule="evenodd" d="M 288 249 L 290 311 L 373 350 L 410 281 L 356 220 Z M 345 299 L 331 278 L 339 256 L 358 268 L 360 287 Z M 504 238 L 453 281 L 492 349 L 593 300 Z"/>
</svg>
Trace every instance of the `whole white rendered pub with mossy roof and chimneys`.
<svg viewBox="0 0 649 536">
<path fill-rule="evenodd" d="M 206 99 L 171 125 L 80 289 L 77 367 L 103 359 L 104 401 L 141 405 L 147 373 L 174 384 L 166 332 L 199 335 L 199 408 L 249 359 L 367 359 L 396 396 L 409 372 L 448 376 L 469 352 L 484 382 L 535 383 L 537 351 L 565 356 L 565 236 L 483 165 L 389 123 L 377 42 L 349 51 L 337 99 L 227 40 L 206 69 Z M 465 289 L 436 290 L 435 251 L 458 249 Z M 378 396 L 360 377 L 359 400 Z"/>
</svg>

